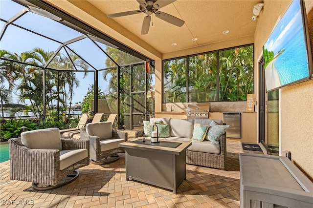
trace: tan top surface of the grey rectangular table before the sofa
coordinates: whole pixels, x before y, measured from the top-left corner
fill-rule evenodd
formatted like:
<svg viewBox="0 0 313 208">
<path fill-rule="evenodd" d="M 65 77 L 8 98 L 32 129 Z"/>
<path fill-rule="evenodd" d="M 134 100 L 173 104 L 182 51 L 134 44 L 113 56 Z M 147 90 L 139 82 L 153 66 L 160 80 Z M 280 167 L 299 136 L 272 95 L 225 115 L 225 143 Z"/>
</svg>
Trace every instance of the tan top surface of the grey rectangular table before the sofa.
<svg viewBox="0 0 313 208">
<path fill-rule="evenodd" d="M 180 152 L 186 150 L 192 144 L 191 142 L 184 142 L 184 141 L 175 141 L 175 140 L 166 140 L 166 139 L 160 139 L 159 140 L 159 141 L 165 141 L 165 142 L 181 143 L 181 145 L 179 145 L 178 147 L 173 148 L 173 147 L 165 147 L 165 146 L 138 144 L 138 143 L 133 142 L 136 140 L 142 141 L 142 139 L 143 139 L 143 137 L 131 139 L 131 140 L 128 140 L 126 142 L 120 143 L 119 146 L 125 147 L 125 148 L 151 150 L 151 151 L 166 151 L 166 152 L 171 152 L 172 154 L 180 154 Z M 149 138 L 149 137 L 145 137 L 145 139 L 146 139 L 146 141 L 151 140 L 151 138 Z"/>
</svg>

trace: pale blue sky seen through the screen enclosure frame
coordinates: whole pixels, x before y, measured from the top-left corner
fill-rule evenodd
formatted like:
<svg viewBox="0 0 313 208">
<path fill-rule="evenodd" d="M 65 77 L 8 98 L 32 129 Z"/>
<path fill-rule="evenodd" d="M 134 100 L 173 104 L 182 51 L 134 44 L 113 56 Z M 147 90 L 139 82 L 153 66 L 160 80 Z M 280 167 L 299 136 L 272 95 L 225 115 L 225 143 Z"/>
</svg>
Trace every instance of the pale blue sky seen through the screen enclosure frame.
<svg viewBox="0 0 313 208">
<path fill-rule="evenodd" d="M 21 11 L 23 8 L 23 6 L 11 0 L 0 0 L 0 17 L 1 19 L 9 20 L 9 18 L 11 18 L 17 12 Z M 48 36 L 59 42 L 66 42 L 83 35 L 63 24 L 31 12 L 27 12 L 23 15 L 22 18 L 18 19 L 14 23 Z M 1 21 L 1 28 L 3 25 L 4 22 Z M 105 49 L 104 44 L 99 44 L 103 49 Z M 7 50 L 12 53 L 17 53 L 18 55 L 20 55 L 22 52 L 30 51 L 35 47 L 42 48 L 45 51 L 55 51 L 59 46 L 60 43 L 58 42 L 45 39 L 44 37 L 30 33 L 26 30 L 22 30 L 21 28 L 13 25 L 10 25 L 7 28 L 3 38 L 0 41 L 1 50 Z M 105 60 L 107 59 L 107 56 L 89 39 L 82 40 L 81 42 L 71 43 L 69 46 L 71 46 L 75 52 L 77 52 L 95 68 L 106 68 Z M 73 104 L 83 101 L 83 98 L 88 91 L 89 85 L 93 84 L 94 73 L 89 72 L 89 75 L 84 79 L 83 74 L 84 73 L 76 73 L 77 78 L 80 80 L 80 86 L 75 89 Z M 102 74 L 103 72 L 99 73 L 99 79 L 102 78 Z M 102 91 L 105 91 L 108 83 L 102 81 L 99 86 Z"/>
</svg>

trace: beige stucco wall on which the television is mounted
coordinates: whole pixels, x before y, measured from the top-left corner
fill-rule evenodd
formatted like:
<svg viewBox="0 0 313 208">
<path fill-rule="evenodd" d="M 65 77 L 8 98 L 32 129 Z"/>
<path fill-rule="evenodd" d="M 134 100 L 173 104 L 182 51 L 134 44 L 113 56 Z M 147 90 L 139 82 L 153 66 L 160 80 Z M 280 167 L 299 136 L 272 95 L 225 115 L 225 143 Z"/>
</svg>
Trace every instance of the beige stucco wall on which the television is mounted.
<svg viewBox="0 0 313 208">
<path fill-rule="evenodd" d="M 312 1 L 306 0 L 305 3 L 307 13 L 312 13 Z M 284 15 L 290 4 L 291 0 L 264 1 L 264 9 L 260 13 L 254 36 L 256 73 L 262 47 L 275 23 Z M 313 30 L 312 26 L 310 30 Z M 281 89 L 280 125 L 282 150 L 291 151 L 293 163 L 313 181 L 313 80 Z"/>
</svg>

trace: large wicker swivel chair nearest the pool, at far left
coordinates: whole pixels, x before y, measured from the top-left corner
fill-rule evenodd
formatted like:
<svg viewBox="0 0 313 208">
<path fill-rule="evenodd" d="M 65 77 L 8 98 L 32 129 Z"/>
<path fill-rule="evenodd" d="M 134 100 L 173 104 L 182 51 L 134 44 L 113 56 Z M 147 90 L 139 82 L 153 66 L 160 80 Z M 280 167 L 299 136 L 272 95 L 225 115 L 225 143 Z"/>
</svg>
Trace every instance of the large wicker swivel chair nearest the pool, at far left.
<svg viewBox="0 0 313 208">
<path fill-rule="evenodd" d="M 77 179 L 75 169 L 89 165 L 89 140 L 61 139 L 58 128 L 22 132 L 9 148 L 10 179 L 33 182 L 36 190 L 64 186 Z"/>
</svg>

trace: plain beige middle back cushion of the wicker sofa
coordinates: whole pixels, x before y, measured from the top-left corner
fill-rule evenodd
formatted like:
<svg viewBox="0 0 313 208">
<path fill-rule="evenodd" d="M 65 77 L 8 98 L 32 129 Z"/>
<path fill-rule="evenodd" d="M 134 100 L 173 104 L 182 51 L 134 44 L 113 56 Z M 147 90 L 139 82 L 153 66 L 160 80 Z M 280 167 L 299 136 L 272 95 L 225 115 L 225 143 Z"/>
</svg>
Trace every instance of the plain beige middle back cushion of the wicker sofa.
<svg viewBox="0 0 313 208">
<path fill-rule="evenodd" d="M 194 120 L 193 119 L 171 119 L 171 137 L 192 138 Z"/>
</svg>

